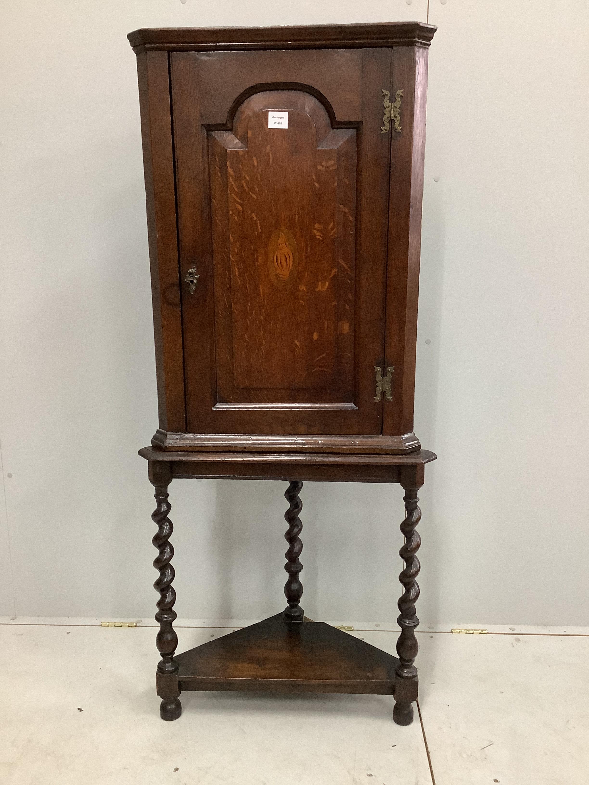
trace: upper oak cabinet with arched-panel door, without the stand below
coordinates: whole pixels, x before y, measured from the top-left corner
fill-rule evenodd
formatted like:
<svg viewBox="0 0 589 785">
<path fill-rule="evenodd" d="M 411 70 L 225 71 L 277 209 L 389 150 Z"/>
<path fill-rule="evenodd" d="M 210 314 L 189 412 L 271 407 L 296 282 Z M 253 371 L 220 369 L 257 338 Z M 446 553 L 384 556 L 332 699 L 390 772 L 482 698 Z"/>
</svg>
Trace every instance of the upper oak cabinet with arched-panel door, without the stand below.
<svg viewBox="0 0 589 785">
<path fill-rule="evenodd" d="M 419 450 L 415 345 L 434 30 L 130 34 L 152 267 L 153 444 Z M 398 97 L 390 122 L 386 96 Z M 280 129 L 269 122 L 276 111 L 288 118 Z M 375 395 L 387 368 L 390 391 Z"/>
</svg>

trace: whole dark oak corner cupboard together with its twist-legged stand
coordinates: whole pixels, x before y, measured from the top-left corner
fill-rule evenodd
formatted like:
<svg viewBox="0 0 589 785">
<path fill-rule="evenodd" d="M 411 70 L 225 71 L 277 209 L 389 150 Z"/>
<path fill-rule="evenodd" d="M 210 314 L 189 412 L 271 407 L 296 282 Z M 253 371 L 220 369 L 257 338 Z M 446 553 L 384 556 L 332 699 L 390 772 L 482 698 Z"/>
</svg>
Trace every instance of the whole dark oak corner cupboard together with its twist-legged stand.
<svg viewBox="0 0 589 785">
<path fill-rule="evenodd" d="M 417 697 L 413 428 L 427 55 L 417 22 L 145 29 L 137 53 L 159 423 L 160 714 L 188 690 Z M 286 480 L 287 607 L 176 653 L 174 478 Z M 398 657 L 301 607 L 305 480 L 398 483 Z"/>
</svg>

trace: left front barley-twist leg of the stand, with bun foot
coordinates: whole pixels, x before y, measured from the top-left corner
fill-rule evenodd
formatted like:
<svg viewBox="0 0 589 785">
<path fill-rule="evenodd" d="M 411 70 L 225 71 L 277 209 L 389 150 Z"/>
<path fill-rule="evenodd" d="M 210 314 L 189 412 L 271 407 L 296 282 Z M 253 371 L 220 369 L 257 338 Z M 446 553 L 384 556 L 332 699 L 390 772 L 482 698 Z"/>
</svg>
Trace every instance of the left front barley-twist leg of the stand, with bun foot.
<svg viewBox="0 0 589 785">
<path fill-rule="evenodd" d="M 152 514 L 152 520 L 158 526 L 158 531 L 152 539 L 154 546 L 158 550 L 153 566 L 159 570 L 159 578 L 153 584 L 155 590 L 159 591 L 158 611 L 155 614 L 155 621 L 159 623 L 159 633 L 155 638 L 155 645 L 162 658 L 159 660 L 157 668 L 158 692 L 160 696 L 163 696 L 159 714 L 163 720 L 175 720 L 177 717 L 180 717 L 182 711 L 181 703 L 178 699 L 177 679 L 166 678 L 177 674 L 178 670 L 177 663 L 174 660 L 174 652 L 178 644 L 173 626 L 177 616 L 174 611 L 176 592 L 172 587 L 172 581 L 175 577 L 174 568 L 171 564 L 172 557 L 174 557 L 174 548 L 170 543 L 170 536 L 172 531 L 174 531 L 174 527 L 172 521 L 168 518 L 168 513 L 171 509 L 167 492 L 169 480 L 165 484 L 159 484 L 157 480 L 152 480 L 152 482 L 155 486 L 155 501 L 157 502 L 157 507 Z"/>
</svg>

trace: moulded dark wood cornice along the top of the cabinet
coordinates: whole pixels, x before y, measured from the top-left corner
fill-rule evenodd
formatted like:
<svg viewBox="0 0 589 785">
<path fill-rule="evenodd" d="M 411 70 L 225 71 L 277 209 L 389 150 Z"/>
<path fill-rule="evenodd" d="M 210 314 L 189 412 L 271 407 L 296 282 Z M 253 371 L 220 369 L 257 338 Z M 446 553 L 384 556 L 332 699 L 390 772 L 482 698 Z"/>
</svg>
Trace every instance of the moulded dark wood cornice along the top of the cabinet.
<svg viewBox="0 0 589 785">
<path fill-rule="evenodd" d="M 155 27 L 129 33 L 135 52 L 214 49 L 329 49 L 430 46 L 436 27 L 423 22 L 318 24 L 302 27 Z"/>
</svg>

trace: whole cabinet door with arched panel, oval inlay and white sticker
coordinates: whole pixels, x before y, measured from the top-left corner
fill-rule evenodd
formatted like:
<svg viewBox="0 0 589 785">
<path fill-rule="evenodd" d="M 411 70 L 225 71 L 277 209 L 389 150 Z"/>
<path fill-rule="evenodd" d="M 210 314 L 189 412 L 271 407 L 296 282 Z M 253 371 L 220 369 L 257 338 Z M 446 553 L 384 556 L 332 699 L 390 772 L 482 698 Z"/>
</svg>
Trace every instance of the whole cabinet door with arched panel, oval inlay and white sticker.
<svg viewBox="0 0 589 785">
<path fill-rule="evenodd" d="M 170 57 L 188 431 L 381 433 L 390 49 Z"/>
</svg>

